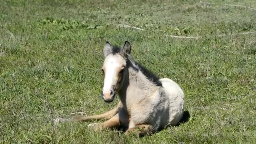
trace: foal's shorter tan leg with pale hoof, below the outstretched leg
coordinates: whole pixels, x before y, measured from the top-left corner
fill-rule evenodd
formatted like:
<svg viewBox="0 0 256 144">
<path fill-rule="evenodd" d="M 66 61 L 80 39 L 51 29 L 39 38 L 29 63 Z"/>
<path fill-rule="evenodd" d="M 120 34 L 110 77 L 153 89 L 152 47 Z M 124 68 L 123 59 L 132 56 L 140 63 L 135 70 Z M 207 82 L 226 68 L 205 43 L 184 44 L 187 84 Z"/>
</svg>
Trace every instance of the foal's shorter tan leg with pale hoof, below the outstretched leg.
<svg viewBox="0 0 256 144">
<path fill-rule="evenodd" d="M 110 118 L 109 120 L 105 121 L 104 123 L 91 123 L 88 125 L 89 128 L 94 128 L 95 131 L 111 128 L 120 125 L 120 119 L 118 113 Z"/>
</svg>

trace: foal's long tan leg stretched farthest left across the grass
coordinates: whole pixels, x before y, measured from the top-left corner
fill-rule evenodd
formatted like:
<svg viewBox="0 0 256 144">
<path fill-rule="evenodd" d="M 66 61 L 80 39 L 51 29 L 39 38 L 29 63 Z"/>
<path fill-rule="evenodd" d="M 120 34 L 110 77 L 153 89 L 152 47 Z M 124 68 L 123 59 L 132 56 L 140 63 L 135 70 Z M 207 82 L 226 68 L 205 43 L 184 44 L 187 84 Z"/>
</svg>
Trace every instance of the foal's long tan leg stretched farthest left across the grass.
<svg viewBox="0 0 256 144">
<path fill-rule="evenodd" d="M 119 102 L 119 104 L 117 105 L 116 108 L 108 111 L 108 112 L 105 112 L 104 114 L 101 114 L 101 115 L 93 115 L 93 116 L 72 116 L 70 118 L 56 118 L 54 119 L 54 123 L 59 123 L 59 122 L 81 122 L 81 121 L 86 121 L 86 120 L 100 120 L 100 119 L 103 119 L 103 118 L 107 118 L 107 119 L 110 119 L 111 117 L 113 117 L 114 115 L 116 115 L 119 110 L 121 109 L 122 107 L 122 103 Z"/>
</svg>

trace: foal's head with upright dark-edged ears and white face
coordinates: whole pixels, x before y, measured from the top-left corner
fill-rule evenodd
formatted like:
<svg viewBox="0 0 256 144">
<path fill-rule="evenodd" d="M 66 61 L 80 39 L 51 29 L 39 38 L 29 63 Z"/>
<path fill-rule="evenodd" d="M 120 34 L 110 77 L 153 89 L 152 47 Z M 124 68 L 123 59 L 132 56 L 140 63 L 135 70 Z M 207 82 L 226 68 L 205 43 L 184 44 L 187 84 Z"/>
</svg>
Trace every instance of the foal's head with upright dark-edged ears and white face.
<svg viewBox="0 0 256 144">
<path fill-rule="evenodd" d="M 130 53 L 131 45 L 128 41 L 125 41 L 123 48 L 112 47 L 109 42 L 104 45 L 104 87 L 101 92 L 104 101 L 113 101 L 115 94 L 122 88 L 124 77 L 128 75 L 126 60 Z"/>
</svg>

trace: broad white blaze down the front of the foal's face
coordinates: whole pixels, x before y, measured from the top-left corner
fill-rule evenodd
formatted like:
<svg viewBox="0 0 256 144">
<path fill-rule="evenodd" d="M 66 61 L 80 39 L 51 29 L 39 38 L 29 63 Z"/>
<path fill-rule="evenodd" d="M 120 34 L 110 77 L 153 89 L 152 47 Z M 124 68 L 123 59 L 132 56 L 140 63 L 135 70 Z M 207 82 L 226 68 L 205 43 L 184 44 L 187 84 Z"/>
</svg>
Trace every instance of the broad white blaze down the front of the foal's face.
<svg viewBox="0 0 256 144">
<path fill-rule="evenodd" d="M 115 88 L 115 85 L 117 84 L 117 80 L 119 79 L 119 71 L 123 67 L 123 61 L 124 59 L 116 54 L 106 57 L 104 61 L 104 87 L 103 87 L 103 95 L 104 96 L 110 96 L 111 91 L 114 91 L 113 88 Z"/>
</svg>

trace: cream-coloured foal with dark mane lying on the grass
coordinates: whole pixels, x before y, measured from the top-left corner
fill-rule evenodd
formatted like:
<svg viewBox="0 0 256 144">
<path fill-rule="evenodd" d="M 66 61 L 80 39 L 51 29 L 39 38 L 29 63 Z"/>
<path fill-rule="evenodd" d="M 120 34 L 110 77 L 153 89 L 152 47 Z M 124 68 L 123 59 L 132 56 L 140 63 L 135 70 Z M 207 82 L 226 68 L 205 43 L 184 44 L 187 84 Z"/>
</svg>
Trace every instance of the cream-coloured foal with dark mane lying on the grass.
<svg viewBox="0 0 256 144">
<path fill-rule="evenodd" d="M 101 96 L 105 102 L 119 96 L 116 108 L 94 116 L 74 116 L 59 121 L 85 121 L 107 118 L 104 123 L 92 123 L 95 130 L 122 125 L 139 135 L 154 133 L 165 126 L 177 125 L 184 114 L 184 93 L 177 83 L 159 79 L 152 72 L 130 59 L 131 45 L 123 48 L 104 45 L 104 87 Z"/>
</svg>

